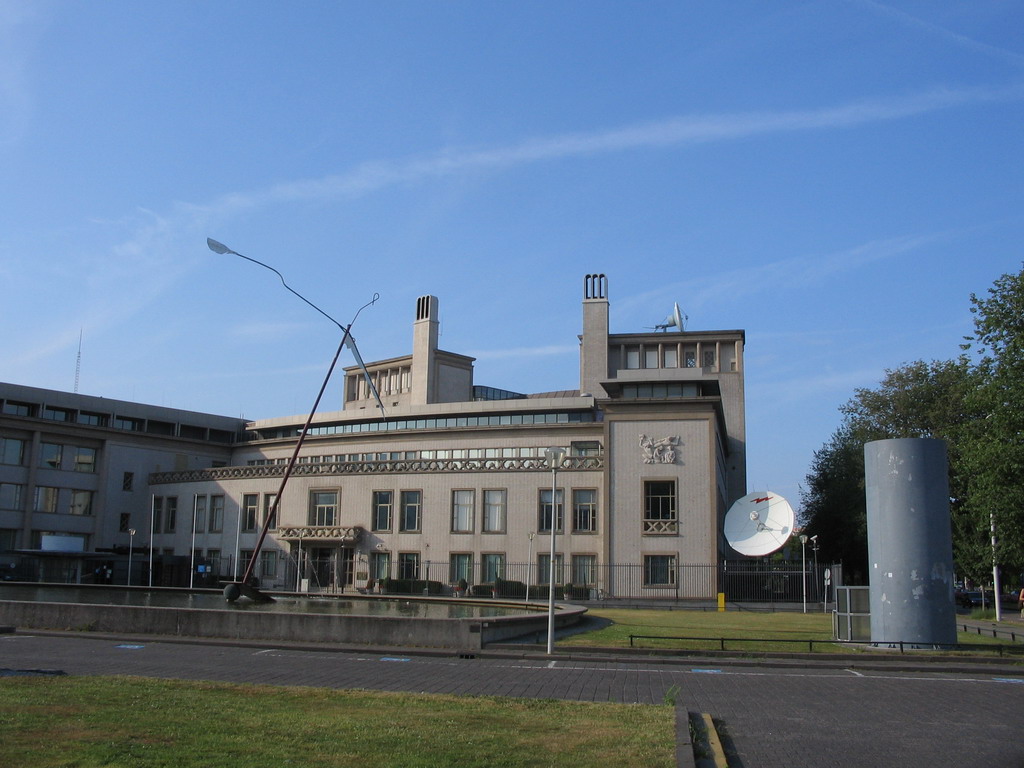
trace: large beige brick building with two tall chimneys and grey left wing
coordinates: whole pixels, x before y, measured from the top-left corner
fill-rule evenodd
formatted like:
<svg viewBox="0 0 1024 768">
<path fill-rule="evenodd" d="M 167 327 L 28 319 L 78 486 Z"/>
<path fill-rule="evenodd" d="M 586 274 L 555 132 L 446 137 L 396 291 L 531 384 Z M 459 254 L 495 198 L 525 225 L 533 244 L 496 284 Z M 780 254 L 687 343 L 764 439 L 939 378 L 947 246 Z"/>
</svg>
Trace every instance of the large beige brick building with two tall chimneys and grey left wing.
<svg viewBox="0 0 1024 768">
<path fill-rule="evenodd" d="M 438 348 L 437 298 L 418 299 L 412 353 L 346 369 L 342 409 L 312 419 L 268 523 L 260 585 L 545 585 L 554 524 L 558 584 L 714 596 L 713 572 L 682 574 L 724 559 L 722 520 L 745 494 L 743 333 L 610 334 L 606 278 L 583 289 L 580 388 L 540 394 L 475 385 L 473 358 Z M 129 528 L 138 567 L 152 550 L 228 579 L 249 561 L 306 422 L 12 385 L 0 386 L 0 549 L 77 537 L 90 552 L 127 544 Z M 59 467 L 53 445 L 67 449 Z M 554 472 L 551 446 L 565 451 Z M 73 511 L 82 490 L 88 513 Z"/>
</svg>

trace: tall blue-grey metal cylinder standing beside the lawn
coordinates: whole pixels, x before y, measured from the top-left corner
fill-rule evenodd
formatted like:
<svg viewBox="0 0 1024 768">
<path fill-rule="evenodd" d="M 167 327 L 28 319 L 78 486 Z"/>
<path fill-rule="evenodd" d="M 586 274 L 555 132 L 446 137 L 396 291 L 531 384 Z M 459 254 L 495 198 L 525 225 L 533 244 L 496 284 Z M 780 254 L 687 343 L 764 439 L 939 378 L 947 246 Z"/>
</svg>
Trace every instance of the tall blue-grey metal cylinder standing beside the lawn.
<svg viewBox="0 0 1024 768">
<path fill-rule="evenodd" d="M 956 642 L 946 443 L 864 445 L 871 642 Z"/>
</svg>

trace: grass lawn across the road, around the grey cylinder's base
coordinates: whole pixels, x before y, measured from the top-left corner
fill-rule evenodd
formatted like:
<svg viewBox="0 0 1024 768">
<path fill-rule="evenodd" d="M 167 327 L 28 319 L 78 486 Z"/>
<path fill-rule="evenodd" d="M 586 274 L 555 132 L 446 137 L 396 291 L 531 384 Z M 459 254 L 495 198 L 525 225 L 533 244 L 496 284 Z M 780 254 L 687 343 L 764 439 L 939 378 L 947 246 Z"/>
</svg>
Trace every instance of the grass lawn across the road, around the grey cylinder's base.
<svg viewBox="0 0 1024 768">
<path fill-rule="evenodd" d="M 591 608 L 588 616 L 607 620 L 610 625 L 593 632 L 571 635 L 558 646 L 588 645 L 605 648 L 630 647 L 630 635 L 708 638 L 708 640 L 634 641 L 640 648 L 718 650 L 719 638 L 731 638 L 725 649 L 733 651 L 807 652 L 808 640 L 815 640 L 814 652 L 856 652 L 854 648 L 827 643 L 833 639 L 831 614 L 802 611 L 754 612 L 741 610 L 701 611 L 638 608 Z M 785 640 L 786 642 L 758 642 Z M 803 641 L 803 642 L 800 642 Z M 822 641 L 818 643 L 817 641 Z M 972 645 L 1007 644 L 970 633 L 957 633 L 957 642 Z"/>
</svg>

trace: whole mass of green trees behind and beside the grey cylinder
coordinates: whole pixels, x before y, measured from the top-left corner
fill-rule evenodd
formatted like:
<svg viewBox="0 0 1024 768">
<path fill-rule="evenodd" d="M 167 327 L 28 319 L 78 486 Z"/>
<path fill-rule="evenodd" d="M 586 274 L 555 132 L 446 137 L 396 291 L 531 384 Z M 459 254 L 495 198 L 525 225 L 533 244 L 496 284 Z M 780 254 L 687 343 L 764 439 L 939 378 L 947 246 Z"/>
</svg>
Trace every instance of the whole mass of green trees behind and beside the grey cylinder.
<svg viewBox="0 0 1024 768">
<path fill-rule="evenodd" d="M 974 334 L 952 360 L 887 371 L 857 389 L 843 421 L 814 454 L 802 489 L 802 518 L 826 557 L 859 571 L 867 561 L 863 445 L 896 437 L 946 441 L 953 556 L 959 572 L 1008 581 L 1024 569 L 1024 269 L 1004 274 L 984 297 L 971 295 Z M 840 541 L 834 541 L 840 540 Z M 849 581 L 849 580 L 848 580 Z"/>
</svg>

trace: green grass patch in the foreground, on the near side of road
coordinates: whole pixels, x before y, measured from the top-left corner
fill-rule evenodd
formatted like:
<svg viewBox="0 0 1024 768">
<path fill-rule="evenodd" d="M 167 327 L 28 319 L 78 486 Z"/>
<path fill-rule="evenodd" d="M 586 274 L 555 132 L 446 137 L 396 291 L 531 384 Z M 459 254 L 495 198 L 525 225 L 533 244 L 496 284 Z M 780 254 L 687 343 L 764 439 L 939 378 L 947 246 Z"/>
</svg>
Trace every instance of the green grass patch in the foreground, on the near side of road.
<svg viewBox="0 0 1024 768">
<path fill-rule="evenodd" d="M 0 679 L 0 763 L 672 766 L 669 707 L 230 685 Z"/>
</svg>

